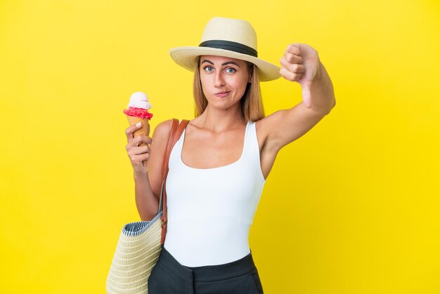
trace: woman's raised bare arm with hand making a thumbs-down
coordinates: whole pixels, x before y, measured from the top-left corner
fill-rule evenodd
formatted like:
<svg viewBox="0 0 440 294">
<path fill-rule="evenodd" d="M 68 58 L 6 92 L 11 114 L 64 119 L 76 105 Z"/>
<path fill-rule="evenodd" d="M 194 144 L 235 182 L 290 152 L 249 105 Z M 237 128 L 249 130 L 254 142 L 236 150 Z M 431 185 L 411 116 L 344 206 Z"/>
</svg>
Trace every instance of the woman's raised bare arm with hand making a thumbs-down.
<svg viewBox="0 0 440 294">
<path fill-rule="evenodd" d="M 290 45 L 280 63 L 280 74 L 302 85 L 303 101 L 259 121 L 259 129 L 266 138 L 265 151 L 273 153 L 309 132 L 336 105 L 330 76 L 313 48 L 306 44 Z"/>
</svg>

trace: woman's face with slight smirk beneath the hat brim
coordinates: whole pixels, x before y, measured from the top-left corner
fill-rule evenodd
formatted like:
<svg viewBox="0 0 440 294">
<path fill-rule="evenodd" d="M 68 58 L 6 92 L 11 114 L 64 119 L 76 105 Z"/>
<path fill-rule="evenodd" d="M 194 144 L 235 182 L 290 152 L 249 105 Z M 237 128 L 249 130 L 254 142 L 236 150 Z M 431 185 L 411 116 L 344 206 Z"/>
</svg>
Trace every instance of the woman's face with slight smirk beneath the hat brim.
<svg viewBox="0 0 440 294">
<path fill-rule="evenodd" d="M 224 56 L 200 56 L 200 82 L 208 103 L 227 109 L 245 94 L 252 76 L 245 60 Z"/>
</svg>

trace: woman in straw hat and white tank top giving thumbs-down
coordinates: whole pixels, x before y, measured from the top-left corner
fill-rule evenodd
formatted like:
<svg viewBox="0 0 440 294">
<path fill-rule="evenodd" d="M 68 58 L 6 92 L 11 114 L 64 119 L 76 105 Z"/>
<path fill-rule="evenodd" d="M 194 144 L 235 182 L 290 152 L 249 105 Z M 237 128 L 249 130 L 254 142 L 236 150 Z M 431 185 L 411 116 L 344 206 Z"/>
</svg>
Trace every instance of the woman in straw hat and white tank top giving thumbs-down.
<svg viewBox="0 0 440 294">
<path fill-rule="evenodd" d="M 335 106 L 332 82 L 306 44 L 287 46 L 282 68 L 258 58 L 245 20 L 212 18 L 199 46 L 170 55 L 195 71 L 196 110 L 169 158 L 167 235 L 149 293 L 263 293 L 248 244 L 252 219 L 280 148 Z M 303 101 L 265 117 L 259 82 L 280 76 L 302 85 Z M 126 129 L 141 219 L 157 214 L 171 124 L 158 124 L 153 139 Z"/>
</svg>

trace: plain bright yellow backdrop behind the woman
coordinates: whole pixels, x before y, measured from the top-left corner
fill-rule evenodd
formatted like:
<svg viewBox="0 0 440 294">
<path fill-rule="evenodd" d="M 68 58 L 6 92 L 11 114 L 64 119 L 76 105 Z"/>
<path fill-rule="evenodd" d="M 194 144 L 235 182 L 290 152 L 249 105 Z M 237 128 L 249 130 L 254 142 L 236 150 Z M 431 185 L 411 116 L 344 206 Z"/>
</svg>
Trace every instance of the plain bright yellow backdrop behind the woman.
<svg viewBox="0 0 440 294">
<path fill-rule="evenodd" d="M 0 292 L 105 293 L 139 219 L 122 113 L 193 118 L 213 16 L 248 20 L 259 56 L 315 48 L 337 106 L 278 155 L 250 231 L 265 293 L 440 293 L 440 5 L 420 1 L 1 1 Z M 261 83 L 266 115 L 299 84 Z"/>
</svg>

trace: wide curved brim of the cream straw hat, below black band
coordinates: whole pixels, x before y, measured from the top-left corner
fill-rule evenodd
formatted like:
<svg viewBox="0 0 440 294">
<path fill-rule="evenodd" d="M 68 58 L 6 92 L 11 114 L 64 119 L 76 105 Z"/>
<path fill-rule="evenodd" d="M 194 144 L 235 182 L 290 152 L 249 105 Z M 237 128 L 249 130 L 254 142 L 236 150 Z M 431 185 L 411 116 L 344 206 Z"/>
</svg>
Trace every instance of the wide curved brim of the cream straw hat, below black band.
<svg viewBox="0 0 440 294">
<path fill-rule="evenodd" d="M 200 55 L 225 56 L 254 63 L 258 68 L 260 82 L 271 81 L 281 77 L 280 68 L 278 66 L 247 54 L 200 46 L 184 46 L 169 49 L 169 56 L 171 56 L 174 62 L 190 71 L 195 70 L 195 67 L 197 66 L 197 57 Z"/>
</svg>

